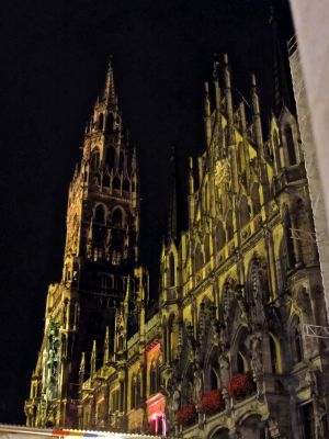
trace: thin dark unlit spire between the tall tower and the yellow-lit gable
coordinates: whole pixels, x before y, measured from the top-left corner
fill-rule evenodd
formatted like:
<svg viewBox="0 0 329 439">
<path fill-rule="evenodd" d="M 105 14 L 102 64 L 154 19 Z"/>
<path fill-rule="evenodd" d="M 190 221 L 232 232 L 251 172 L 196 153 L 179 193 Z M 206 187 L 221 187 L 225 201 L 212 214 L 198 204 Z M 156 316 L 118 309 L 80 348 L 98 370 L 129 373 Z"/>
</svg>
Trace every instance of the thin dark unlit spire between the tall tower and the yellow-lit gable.
<svg viewBox="0 0 329 439">
<path fill-rule="evenodd" d="M 171 148 L 171 192 L 168 218 L 168 239 L 178 240 L 183 228 L 183 212 L 181 206 L 180 179 L 177 159 L 177 146 Z"/>
</svg>

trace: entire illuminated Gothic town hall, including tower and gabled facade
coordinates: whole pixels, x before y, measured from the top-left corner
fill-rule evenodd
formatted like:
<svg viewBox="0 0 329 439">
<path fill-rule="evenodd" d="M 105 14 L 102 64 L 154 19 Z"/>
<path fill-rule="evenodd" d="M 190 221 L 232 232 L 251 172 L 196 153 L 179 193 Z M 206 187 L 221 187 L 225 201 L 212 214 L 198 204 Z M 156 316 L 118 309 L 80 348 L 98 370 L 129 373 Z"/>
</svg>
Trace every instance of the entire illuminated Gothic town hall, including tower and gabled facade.
<svg viewBox="0 0 329 439">
<path fill-rule="evenodd" d="M 264 138 L 256 78 L 250 108 L 231 89 L 225 56 L 205 83 L 186 230 L 173 179 L 150 313 L 136 151 L 109 67 L 69 188 L 63 278 L 48 289 L 27 425 L 328 437 L 329 347 L 305 331 L 328 322 L 298 124 L 282 105 Z"/>
</svg>

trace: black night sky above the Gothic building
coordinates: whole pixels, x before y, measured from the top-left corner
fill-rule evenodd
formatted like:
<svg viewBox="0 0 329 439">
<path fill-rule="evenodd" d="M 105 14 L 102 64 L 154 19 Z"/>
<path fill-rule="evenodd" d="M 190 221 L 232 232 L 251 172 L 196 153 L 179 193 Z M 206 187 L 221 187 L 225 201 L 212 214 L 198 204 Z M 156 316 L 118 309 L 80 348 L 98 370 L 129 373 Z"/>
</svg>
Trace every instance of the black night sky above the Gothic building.
<svg viewBox="0 0 329 439">
<path fill-rule="evenodd" d="M 273 2 L 284 40 L 288 5 Z M 247 100 L 258 74 L 265 112 L 273 60 L 265 0 L 8 0 L 0 8 L 0 421 L 23 424 L 47 284 L 60 279 L 68 184 L 109 55 L 137 146 L 141 256 L 151 267 L 167 225 L 171 145 L 183 177 L 188 156 L 204 147 L 202 90 L 213 54 L 229 54 L 234 88 Z"/>
</svg>

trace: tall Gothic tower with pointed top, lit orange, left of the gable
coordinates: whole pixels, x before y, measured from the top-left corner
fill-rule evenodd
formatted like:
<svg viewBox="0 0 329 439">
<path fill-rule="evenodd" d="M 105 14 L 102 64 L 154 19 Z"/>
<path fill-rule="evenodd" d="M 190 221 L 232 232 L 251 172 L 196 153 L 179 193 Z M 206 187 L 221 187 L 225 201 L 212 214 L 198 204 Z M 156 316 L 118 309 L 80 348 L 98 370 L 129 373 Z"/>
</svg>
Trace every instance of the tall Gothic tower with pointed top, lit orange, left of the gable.
<svg viewBox="0 0 329 439">
<path fill-rule="evenodd" d="M 134 302 L 135 273 L 143 272 L 137 270 L 136 150 L 123 128 L 111 63 L 68 192 L 63 277 L 48 289 L 44 338 L 25 403 L 30 426 L 75 426 L 82 353 L 89 357 L 97 346 L 95 362 L 103 358 L 103 337 L 114 335 L 115 309 L 127 289 Z M 109 345 L 112 349 L 113 336 Z"/>
</svg>

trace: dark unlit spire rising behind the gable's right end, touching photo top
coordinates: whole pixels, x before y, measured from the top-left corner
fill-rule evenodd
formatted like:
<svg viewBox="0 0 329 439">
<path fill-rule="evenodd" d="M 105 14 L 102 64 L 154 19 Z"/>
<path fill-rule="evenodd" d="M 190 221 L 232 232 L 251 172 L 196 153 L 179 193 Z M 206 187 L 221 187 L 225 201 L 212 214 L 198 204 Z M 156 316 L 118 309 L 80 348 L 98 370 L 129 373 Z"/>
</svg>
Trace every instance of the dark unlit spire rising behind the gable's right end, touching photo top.
<svg viewBox="0 0 329 439">
<path fill-rule="evenodd" d="M 274 4 L 270 4 L 270 20 L 272 27 L 272 40 L 273 40 L 273 74 L 274 74 L 274 89 L 273 89 L 273 112 L 279 117 L 283 106 L 292 109 L 288 76 L 287 69 L 284 65 L 284 58 L 282 54 L 282 44 L 280 41 L 277 22 L 275 19 Z"/>
</svg>

